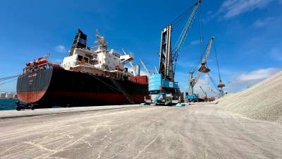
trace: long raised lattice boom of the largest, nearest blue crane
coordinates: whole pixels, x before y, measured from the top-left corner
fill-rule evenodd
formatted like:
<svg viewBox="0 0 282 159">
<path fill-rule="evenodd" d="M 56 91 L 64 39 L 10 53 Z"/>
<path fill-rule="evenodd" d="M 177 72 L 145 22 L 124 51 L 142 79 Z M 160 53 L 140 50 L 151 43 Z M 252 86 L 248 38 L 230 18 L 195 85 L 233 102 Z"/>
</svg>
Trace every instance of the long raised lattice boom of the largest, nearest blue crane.
<svg viewBox="0 0 282 159">
<path fill-rule="evenodd" d="M 196 14 L 197 14 L 197 10 L 200 6 L 200 4 L 202 3 L 202 0 L 197 0 L 197 3 L 194 5 L 194 8 L 192 10 L 192 13 L 187 21 L 187 23 L 185 24 L 182 33 L 180 34 L 180 36 L 178 37 L 178 40 L 176 42 L 176 46 L 175 46 L 175 50 L 173 52 L 173 61 L 174 61 L 174 68 L 173 68 L 173 75 L 176 71 L 176 62 L 178 59 L 178 55 L 180 52 L 181 47 L 183 46 L 185 39 L 187 37 L 187 33 L 190 30 L 193 21 L 195 20 Z"/>
</svg>

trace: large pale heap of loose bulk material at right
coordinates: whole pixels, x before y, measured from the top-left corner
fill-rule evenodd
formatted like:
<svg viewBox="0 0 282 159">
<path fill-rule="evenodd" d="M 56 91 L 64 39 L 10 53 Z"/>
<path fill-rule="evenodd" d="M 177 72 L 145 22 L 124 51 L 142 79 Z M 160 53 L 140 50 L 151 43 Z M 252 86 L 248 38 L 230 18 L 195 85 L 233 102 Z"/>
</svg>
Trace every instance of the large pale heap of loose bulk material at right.
<svg viewBox="0 0 282 159">
<path fill-rule="evenodd" d="M 218 102 L 219 107 L 231 112 L 282 124 L 282 71 Z"/>
</svg>

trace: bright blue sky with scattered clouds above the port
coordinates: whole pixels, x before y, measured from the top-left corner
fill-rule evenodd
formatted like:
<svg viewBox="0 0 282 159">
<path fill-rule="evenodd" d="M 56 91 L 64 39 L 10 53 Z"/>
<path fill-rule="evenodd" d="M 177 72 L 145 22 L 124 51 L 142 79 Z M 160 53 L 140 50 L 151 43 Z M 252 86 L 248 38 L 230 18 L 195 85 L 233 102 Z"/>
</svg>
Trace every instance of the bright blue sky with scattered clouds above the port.
<svg viewBox="0 0 282 159">
<path fill-rule="evenodd" d="M 149 69 L 158 65 L 160 33 L 168 23 L 192 6 L 187 1 L 2 1 L 0 10 L 0 77 L 21 73 L 25 63 L 47 52 L 51 61 L 68 55 L 80 28 L 94 45 L 95 30 L 109 42 L 109 48 L 125 48 L 141 57 Z M 200 45 L 199 18 L 202 15 L 204 46 Z M 187 88 L 188 71 L 200 60 L 202 48 L 215 37 L 221 76 L 226 91 L 236 92 L 281 70 L 282 1 L 202 1 L 194 25 L 180 52 L 176 79 Z M 173 40 L 183 27 L 174 28 Z M 139 63 L 139 61 L 135 61 Z M 218 81 L 214 50 L 208 66 Z M 199 84 L 208 85 L 202 75 Z M 204 86 L 208 90 L 209 86 Z M 0 85 L 0 91 L 15 91 L 16 81 Z"/>
</svg>

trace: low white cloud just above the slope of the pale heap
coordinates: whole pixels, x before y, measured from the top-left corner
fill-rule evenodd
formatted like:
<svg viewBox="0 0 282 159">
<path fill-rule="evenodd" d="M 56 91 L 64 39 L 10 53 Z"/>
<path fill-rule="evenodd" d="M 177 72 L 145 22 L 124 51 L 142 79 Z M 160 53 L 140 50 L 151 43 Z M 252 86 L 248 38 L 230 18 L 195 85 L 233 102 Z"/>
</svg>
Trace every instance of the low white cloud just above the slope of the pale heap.
<svg viewBox="0 0 282 159">
<path fill-rule="evenodd" d="M 268 68 L 241 73 L 227 84 L 226 89 L 230 92 L 237 92 L 238 90 L 250 87 L 266 78 L 269 78 L 270 76 L 273 76 L 278 71 L 281 71 L 281 69 Z"/>
</svg>

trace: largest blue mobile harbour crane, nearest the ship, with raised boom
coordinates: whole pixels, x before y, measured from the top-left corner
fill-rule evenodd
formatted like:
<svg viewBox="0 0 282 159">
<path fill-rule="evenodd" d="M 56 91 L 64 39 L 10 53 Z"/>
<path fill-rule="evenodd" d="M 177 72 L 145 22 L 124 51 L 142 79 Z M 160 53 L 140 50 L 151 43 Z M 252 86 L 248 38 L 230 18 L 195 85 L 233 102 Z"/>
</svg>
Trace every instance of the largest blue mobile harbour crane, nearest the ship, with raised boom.
<svg viewBox="0 0 282 159">
<path fill-rule="evenodd" d="M 159 71 L 149 78 L 149 92 L 155 104 L 171 105 L 177 103 L 180 98 L 178 83 L 174 81 L 177 59 L 201 3 L 202 0 L 197 0 L 192 6 L 192 13 L 185 23 L 174 49 L 171 49 L 172 24 L 161 31 Z"/>
</svg>

